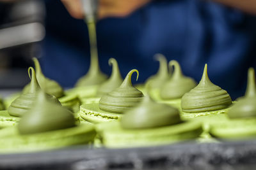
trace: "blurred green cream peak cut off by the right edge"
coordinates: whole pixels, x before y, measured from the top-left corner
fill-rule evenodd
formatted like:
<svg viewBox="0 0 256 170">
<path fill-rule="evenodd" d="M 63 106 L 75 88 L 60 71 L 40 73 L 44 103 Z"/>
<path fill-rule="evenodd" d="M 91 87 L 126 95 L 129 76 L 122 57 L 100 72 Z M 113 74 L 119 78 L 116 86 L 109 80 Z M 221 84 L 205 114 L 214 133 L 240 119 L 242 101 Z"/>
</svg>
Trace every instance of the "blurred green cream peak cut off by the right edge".
<svg viewBox="0 0 256 170">
<path fill-rule="evenodd" d="M 228 111 L 229 118 L 256 117 L 256 85 L 255 71 L 252 67 L 248 69 L 248 80 L 245 96 L 241 97 Z"/>
</svg>

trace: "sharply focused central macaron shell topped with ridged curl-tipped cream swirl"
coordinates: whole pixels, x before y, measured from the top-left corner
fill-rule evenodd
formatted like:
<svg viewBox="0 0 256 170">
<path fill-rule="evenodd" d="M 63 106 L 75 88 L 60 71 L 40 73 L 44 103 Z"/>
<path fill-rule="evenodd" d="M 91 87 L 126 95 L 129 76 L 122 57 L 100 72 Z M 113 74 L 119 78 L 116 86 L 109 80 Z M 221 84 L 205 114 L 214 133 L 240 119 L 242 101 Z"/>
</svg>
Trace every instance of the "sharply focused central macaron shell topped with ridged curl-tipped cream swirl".
<svg viewBox="0 0 256 170">
<path fill-rule="evenodd" d="M 103 95 L 99 103 L 83 104 L 80 107 L 80 116 L 89 122 L 108 122 L 118 120 L 124 111 L 137 106 L 143 98 L 140 90 L 132 87 L 132 73 L 137 73 L 136 69 L 132 69 L 120 87 Z"/>
</svg>

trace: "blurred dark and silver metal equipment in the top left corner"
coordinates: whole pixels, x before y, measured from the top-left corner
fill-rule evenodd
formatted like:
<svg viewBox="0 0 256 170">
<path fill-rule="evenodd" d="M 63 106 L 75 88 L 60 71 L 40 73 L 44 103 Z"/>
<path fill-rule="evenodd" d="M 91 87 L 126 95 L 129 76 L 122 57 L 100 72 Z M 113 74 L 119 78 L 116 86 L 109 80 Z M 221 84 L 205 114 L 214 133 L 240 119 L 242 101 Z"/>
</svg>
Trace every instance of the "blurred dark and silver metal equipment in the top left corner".
<svg viewBox="0 0 256 170">
<path fill-rule="evenodd" d="M 0 89 L 20 88 L 29 81 L 31 58 L 40 56 L 45 6 L 39 0 L 0 3 L 0 14 Z"/>
</svg>

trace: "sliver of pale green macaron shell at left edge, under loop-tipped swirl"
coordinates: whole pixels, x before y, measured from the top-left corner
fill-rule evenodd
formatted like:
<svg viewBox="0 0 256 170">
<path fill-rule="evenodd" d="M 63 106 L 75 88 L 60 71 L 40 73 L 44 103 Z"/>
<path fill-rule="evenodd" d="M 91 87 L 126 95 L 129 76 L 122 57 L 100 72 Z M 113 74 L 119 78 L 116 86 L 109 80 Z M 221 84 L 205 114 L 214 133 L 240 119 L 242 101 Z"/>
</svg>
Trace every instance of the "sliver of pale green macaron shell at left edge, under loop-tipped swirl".
<svg viewBox="0 0 256 170">
<path fill-rule="evenodd" d="M 9 115 L 7 110 L 0 111 L 0 128 L 16 125 L 19 121 L 19 117 Z"/>
</svg>

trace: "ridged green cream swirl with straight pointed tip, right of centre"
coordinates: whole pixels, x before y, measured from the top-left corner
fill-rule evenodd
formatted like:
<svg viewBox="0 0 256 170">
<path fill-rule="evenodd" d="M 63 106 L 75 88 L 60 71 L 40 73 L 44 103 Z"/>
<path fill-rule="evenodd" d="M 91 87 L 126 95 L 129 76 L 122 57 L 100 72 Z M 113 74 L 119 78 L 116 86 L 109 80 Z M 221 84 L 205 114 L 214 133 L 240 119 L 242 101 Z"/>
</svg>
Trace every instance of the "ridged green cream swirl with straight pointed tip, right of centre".
<svg viewBox="0 0 256 170">
<path fill-rule="evenodd" d="M 232 100 L 226 90 L 214 85 L 207 74 L 207 64 L 200 83 L 181 99 L 182 111 L 188 113 L 215 111 L 228 108 Z"/>
</svg>

